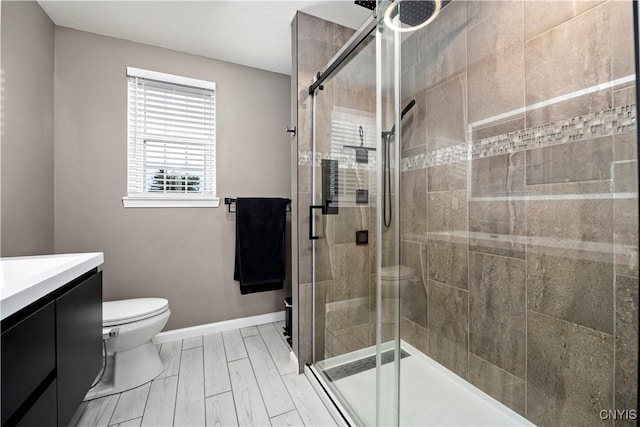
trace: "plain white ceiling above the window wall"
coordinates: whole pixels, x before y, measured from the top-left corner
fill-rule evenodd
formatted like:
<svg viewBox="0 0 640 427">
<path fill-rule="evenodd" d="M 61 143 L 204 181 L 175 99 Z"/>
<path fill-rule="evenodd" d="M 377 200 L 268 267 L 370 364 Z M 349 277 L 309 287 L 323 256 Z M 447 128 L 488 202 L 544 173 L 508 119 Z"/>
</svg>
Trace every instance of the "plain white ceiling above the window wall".
<svg viewBox="0 0 640 427">
<path fill-rule="evenodd" d="M 297 10 L 358 28 L 370 11 L 352 0 L 47 1 L 56 25 L 291 74 Z"/>
</svg>

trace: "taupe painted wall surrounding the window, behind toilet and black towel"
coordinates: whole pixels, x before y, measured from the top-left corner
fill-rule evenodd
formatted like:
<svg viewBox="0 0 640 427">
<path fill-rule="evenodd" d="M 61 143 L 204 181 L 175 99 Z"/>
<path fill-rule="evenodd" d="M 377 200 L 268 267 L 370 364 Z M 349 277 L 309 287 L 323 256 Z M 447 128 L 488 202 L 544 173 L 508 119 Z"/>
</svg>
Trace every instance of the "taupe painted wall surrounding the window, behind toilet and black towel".
<svg viewBox="0 0 640 427">
<path fill-rule="evenodd" d="M 122 206 L 125 72 L 216 82 L 220 197 L 290 197 L 289 76 L 61 27 L 55 49 L 55 251 L 103 251 L 104 299 L 165 297 L 165 329 L 282 310 L 290 284 L 240 295 L 226 206 Z"/>
</svg>

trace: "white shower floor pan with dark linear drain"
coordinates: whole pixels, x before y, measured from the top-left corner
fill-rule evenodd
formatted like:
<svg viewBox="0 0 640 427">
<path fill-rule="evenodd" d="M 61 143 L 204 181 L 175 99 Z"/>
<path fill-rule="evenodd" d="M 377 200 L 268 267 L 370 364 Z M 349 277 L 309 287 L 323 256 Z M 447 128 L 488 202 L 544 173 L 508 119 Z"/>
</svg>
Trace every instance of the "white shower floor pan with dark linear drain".
<svg viewBox="0 0 640 427">
<path fill-rule="evenodd" d="M 389 380 L 394 364 L 384 363 L 384 359 L 391 348 L 383 351 L 382 375 Z M 534 425 L 405 341 L 401 341 L 401 348 L 400 425 Z M 316 374 L 325 389 L 342 396 L 339 401 L 351 408 L 355 423 L 373 426 L 376 425 L 376 370 L 375 364 L 371 367 L 371 357 L 375 358 L 375 346 L 327 359 L 314 370 L 327 372 L 332 377 L 330 380 L 327 375 Z M 385 389 L 390 391 L 391 387 Z M 390 396 L 385 396 L 387 402 L 383 405 L 388 404 L 389 399 Z"/>
</svg>

